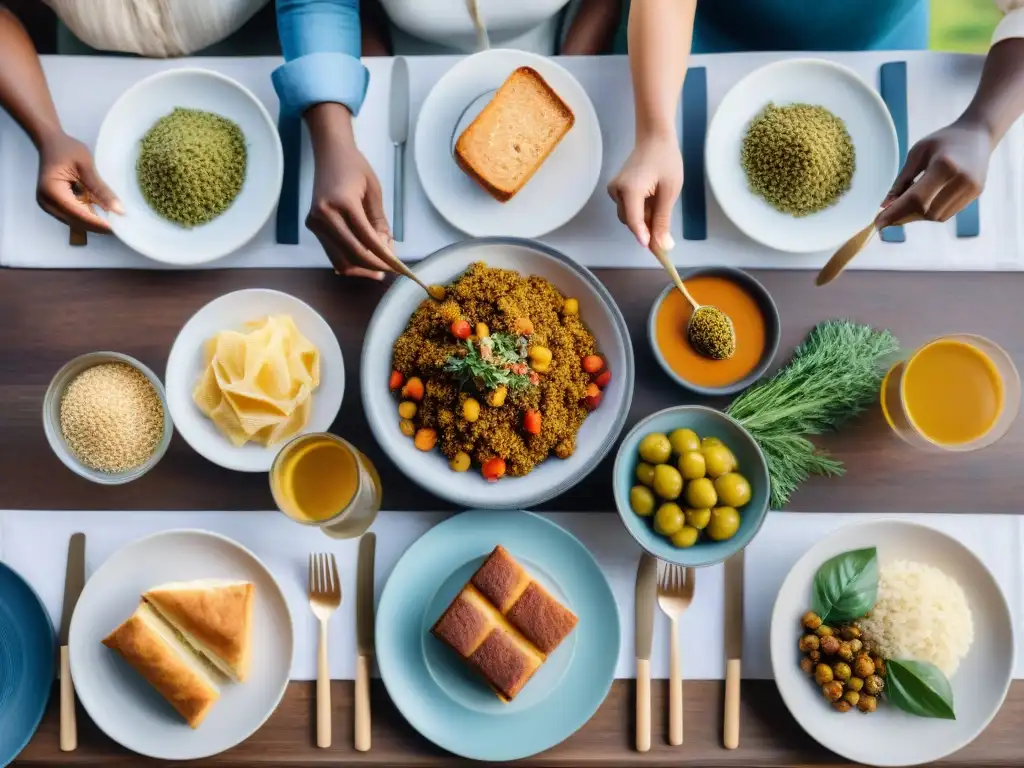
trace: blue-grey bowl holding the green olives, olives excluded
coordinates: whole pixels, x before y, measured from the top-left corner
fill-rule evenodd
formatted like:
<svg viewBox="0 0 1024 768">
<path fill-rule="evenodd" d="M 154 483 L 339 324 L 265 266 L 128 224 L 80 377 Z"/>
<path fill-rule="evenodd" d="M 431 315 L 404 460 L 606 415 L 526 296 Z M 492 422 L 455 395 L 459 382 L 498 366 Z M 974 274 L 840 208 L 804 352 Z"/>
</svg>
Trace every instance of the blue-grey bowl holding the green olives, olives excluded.
<svg viewBox="0 0 1024 768">
<path fill-rule="evenodd" d="M 640 517 L 630 507 L 630 488 L 636 479 L 640 463 L 640 440 L 651 432 L 669 434 L 675 429 L 692 429 L 701 437 L 718 437 L 735 455 L 738 472 L 751 483 L 751 501 L 739 508 L 739 530 L 725 542 L 713 542 L 701 537 L 692 547 L 680 549 L 666 537 L 655 534 L 651 517 Z M 659 560 L 699 568 L 727 560 L 750 544 L 761 529 L 768 513 L 768 464 L 761 447 L 751 433 L 721 411 L 705 406 L 677 406 L 651 414 L 626 435 L 615 456 L 613 470 L 615 508 L 626 529 L 644 550 Z M 680 505 L 682 506 L 682 505 Z"/>
</svg>

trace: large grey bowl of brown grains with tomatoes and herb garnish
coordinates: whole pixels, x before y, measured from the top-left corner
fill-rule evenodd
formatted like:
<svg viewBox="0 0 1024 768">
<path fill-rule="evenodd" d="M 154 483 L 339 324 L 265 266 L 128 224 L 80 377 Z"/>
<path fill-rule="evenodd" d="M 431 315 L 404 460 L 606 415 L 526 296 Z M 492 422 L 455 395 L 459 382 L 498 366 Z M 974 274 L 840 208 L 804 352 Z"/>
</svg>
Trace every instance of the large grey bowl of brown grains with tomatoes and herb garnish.
<svg viewBox="0 0 1024 768">
<path fill-rule="evenodd" d="M 605 288 L 530 241 L 486 238 L 416 265 L 442 301 L 394 283 L 362 345 L 364 409 L 385 454 L 435 496 L 519 509 L 568 489 L 612 447 L 633 392 Z"/>
</svg>

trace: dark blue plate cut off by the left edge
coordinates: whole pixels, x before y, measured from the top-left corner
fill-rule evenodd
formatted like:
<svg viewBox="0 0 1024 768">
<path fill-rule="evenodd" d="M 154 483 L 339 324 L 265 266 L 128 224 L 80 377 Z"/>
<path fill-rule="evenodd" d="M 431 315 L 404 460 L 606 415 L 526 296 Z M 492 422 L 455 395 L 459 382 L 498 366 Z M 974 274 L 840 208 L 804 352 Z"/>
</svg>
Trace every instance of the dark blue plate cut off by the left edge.
<svg viewBox="0 0 1024 768">
<path fill-rule="evenodd" d="M 39 596 L 0 562 L 0 765 L 17 757 L 43 719 L 56 652 Z"/>
</svg>

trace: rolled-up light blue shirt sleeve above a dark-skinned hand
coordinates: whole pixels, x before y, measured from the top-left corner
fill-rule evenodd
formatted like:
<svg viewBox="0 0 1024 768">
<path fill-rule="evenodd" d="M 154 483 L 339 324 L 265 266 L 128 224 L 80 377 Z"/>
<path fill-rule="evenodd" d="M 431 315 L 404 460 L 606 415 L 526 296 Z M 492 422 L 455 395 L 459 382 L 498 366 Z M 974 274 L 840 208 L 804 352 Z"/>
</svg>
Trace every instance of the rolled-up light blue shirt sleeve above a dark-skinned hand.
<svg viewBox="0 0 1024 768">
<path fill-rule="evenodd" d="M 334 101 L 357 115 L 370 73 L 359 61 L 359 0 L 276 0 L 285 63 L 274 70 L 283 115 Z"/>
</svg>

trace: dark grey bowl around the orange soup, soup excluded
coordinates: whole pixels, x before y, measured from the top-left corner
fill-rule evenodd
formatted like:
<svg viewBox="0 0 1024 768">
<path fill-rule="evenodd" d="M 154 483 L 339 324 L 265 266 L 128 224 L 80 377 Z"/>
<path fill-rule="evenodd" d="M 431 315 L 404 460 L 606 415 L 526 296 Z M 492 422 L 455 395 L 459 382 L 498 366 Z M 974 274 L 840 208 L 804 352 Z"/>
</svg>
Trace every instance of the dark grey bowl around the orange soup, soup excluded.
<svg viewBox="0 0 1024 768">
<path fill-rule="evenodd" d="M 698 266 L 693 267 L 692 269 L 679 270 L 679 276 L 682 278 L 684 283 L 690 278 L 697 278 L 701 275 L 725 278 L 732 281 L 745 289 L 746 292 L 754 297 L 754 300 L 761 308 L 761 313 L 765 318 L 765 333 L 768 336 L 768 340 L 765 343 L 765 351 L 761 355 L 761 359 L 754 370 L 739 381 L 727 384 L 724 387 L 706 387 L 700 384 L 694 384 L 691 381 L 687 381 L 672 370 L 672 367 L 669 366 L 668 360 L 665 359 L 665 355 L 662 354 L 662 350 L 657 346 L 657 340 L 654 333 L 654 322 L 657 309 L 662 306 L 662 302 L 665 300 L 665 297 L 669 295 L 670 291 L 677 290 L 674 283 L 667 285 L 665 290 L 657 295 L 657 298 L 654 299 L 654 303 L 651 305 L 650 313 L 647 316 L 647 341 L 650 344 L 651 351 L 654 353 L 654 358 L 657 360 L 657 365 L 659 365 L 662 370 L 665 371 L 665 373 L 667 373 L 679 386 L 684 387 L 691 392 L 708 396 L 735 394 L 736 392 L 746 389 L 746 387 L 751 386 L 751 384 L 764 376 L 765 371 L 768 370 L 772 360 L 775 359 L 775 354 L 778 352 L 779 339 L 782 336 L 782 323 L 778 317 L 778 307 L 775 306 L 775 301 L 768 293 L 768 290 L 742 269 L 736 269 L 731 266 Z"/>
</svg>

